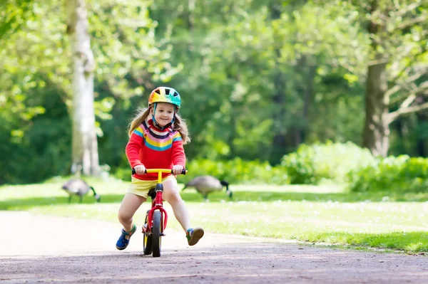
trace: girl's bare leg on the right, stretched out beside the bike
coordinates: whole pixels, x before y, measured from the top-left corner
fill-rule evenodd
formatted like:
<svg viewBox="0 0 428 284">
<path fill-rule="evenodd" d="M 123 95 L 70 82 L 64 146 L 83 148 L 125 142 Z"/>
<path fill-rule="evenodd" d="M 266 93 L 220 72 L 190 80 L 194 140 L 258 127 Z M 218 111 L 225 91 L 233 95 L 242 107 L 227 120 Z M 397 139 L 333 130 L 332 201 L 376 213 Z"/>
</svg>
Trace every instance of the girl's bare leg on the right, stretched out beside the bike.
<svg viewBox="0 0 428 284">
<path fill-rule="evenodd" d="M 190 217 L 184 201 L 181 199 L 175 178 L 169 178 L 163 182 L 163 199 L 171 205 L 175 219 L 183 227 L 183 230 L 187 232 L 188 228 L 190 228 Z"/>
</svg>

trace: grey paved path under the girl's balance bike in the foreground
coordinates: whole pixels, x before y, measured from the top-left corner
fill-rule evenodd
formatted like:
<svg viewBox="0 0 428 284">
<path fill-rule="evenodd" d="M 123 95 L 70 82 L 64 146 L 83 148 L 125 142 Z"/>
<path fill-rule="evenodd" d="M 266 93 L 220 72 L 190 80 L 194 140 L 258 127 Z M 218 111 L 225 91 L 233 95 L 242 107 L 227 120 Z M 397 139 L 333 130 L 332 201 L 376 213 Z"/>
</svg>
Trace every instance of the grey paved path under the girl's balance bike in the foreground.
<svg viewBox="0 0 428 284">
<path fill-rule="evenodd" d="M 209 232 L 189 247 L 183 233 L 169 232 L 161 258 L 153 258 L 141 254 L 141 233 L 126 251 L 117 251 L 115 223 L 11 211 L 0 211 L 0 223 L 1 284 L 428 283 L 425 256 Z"/>
</svg>

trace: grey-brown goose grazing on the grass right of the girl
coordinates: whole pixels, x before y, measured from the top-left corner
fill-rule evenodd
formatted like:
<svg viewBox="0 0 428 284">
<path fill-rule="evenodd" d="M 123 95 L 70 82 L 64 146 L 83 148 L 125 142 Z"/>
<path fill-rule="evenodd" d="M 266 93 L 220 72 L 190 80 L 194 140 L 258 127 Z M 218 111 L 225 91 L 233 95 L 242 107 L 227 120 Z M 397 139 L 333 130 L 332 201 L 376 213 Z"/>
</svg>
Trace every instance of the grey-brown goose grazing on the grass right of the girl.
<svg viewBox="0 0 428 284">
<path fill-rule="evenodd" d="M 208 200 L 208 194 L 213 191 L 222 191 L 223 187 L 226 186 L 226 194 L 228 194 L 229 199 L 232 199 L 232 191 L 229 189 L 229 183 L 225 181 L 220 181 L 212 176 L 200 176 L 195 177 L 190 182 L 185 184 L 182 190 L 187 188 L 194 188 L 200 194 L 202 194 L 203 199 Z"/>
</svg>

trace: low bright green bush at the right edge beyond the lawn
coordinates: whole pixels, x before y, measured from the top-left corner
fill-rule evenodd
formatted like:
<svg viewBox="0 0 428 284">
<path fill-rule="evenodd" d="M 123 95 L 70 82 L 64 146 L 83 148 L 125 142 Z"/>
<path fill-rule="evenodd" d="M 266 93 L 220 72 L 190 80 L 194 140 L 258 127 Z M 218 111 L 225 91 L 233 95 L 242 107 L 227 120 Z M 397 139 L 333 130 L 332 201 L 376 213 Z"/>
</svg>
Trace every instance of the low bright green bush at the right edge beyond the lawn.
<svg viewBox="0 0 428 284">
<path fill-rule="evenodd" d="M 387 157 L 350 172 L 348 178 L 349 189 L 355 192 L 427 192 L 428 159 L 407 155 Z"/>
</svg>

